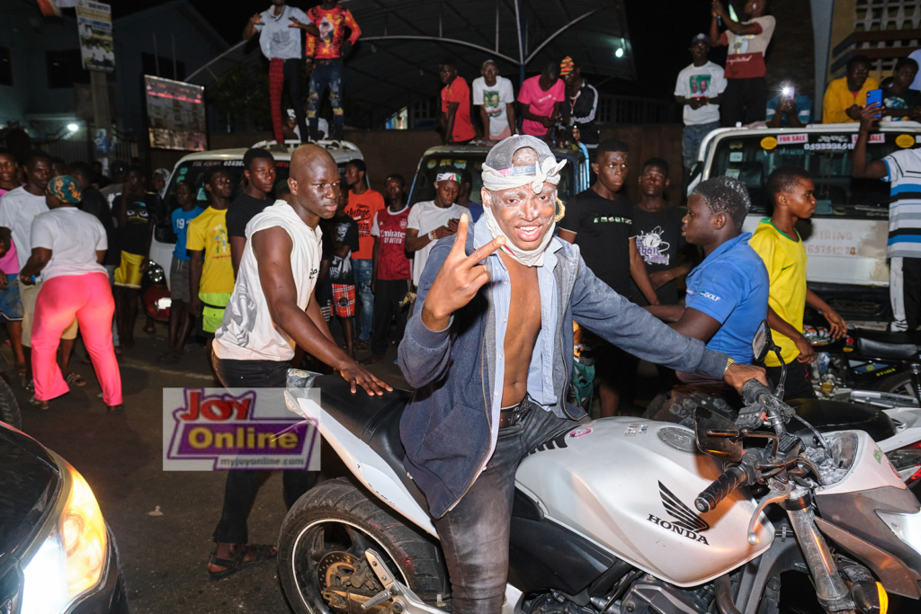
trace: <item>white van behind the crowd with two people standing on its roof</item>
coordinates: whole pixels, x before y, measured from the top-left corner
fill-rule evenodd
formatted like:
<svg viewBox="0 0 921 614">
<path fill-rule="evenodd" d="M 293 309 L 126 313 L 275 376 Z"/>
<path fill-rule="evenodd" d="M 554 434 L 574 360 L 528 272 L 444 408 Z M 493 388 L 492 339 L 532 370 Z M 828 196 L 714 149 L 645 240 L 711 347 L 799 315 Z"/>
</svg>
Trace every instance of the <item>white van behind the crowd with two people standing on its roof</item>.
<svg viewBox="0 0 921 614">
<path fill-rule="evenodd" d="M 262 141 L 253 147 L 269 148 L 275 145 L 274 141 Z M 291 164 L 291 154 L 294 152 L 300 141 L 286 141 L 286 151 L 279 152 L 270 149 L 272 156 L 275 158 L 275 185 L 280 181 L 286 181 L 288 170 Z M 358 147 L 348 141 L 320 141 L 319 145 L 326 147 L 326 150 L 336 161 L 340 174 L 345 172 L 345 165 L 349 160 L 364 159 Z M 275 145 L 276 146 L 276 145 Z M 189 180 L 195 190 L 195 198 L 204 208 L 208 206 L 207 192 L 204 190 L 204 174 L 208 168 L 222 167 L 227 168 L 230 172 L 230 181 L 234 187 L 231 202 L 239 196 L 240 182 L 243 179 L 243 156 L 246 155 L 247 149 L 217 149 L 215 151 L 203 151 L 188 156 L 183 156 L 173 168 L 172 176 L 169 178 L 169 186 L 163 198 L 163 207 L 166 211 L 165 218 L 161 220 L 154 229 L 154 240 L 150 246 L 150 260 L 157 263 L 162 271 L 152 270 L 148 274 L 152 278 L 158 278 L 162 274 L 166 278 L 169 287 L 169 267 L 172 264 L 173 249 L 176 247 L 176 235 L 173 233 L 170 222 L 170 214 L 179 207 L 176 203 L 176 185 L 181 180 Z M 155 267 L 151 266 L 151 269 Z"/>
</svg>

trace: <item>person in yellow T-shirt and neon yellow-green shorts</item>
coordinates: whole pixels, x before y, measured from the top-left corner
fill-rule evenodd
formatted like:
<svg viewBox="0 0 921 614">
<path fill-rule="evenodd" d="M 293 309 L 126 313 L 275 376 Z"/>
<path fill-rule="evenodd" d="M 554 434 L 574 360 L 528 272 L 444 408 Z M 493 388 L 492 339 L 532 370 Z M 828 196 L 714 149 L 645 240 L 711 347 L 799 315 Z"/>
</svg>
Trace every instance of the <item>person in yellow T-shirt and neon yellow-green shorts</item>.
<svg viewBox="0 0 921 614">
<path fill-rule="evenodd" d="M 204 190 L 211 204 L 189 223 L 185 247 L 192 259 L 189 312 L 195 318 L 200 317 L 201 331 L 208 340 L 205 352 L 210 361 L 211 342 L 224 320 L 224 307 L 227 307 L 234 284 L 227 237 L 227 206 L 233 193 L 230 174 L 224 168 L 215 168 L 205 177 Z"/>
</svg>

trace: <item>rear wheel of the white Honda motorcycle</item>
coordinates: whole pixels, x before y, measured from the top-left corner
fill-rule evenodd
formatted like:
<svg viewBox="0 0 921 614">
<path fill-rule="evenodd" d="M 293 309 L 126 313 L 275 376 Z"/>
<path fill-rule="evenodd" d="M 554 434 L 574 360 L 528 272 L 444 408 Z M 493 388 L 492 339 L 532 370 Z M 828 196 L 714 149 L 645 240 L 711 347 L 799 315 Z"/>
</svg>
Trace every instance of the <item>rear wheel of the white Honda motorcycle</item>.
<svg viewBox="0 0 921 614">
<path fill-rule="evenodd" d="M 383 590 L 367 568 L 367 549 L 426 603 L 449 608 L 448 572 L 437 545 L 344 478 L 310 489 L 282 524 L 278 577 L 291 608 L 298 614 L 360 611 L 361 602 Z M 385 601 L 367 614 L 387 608 Z"/>
</svg>

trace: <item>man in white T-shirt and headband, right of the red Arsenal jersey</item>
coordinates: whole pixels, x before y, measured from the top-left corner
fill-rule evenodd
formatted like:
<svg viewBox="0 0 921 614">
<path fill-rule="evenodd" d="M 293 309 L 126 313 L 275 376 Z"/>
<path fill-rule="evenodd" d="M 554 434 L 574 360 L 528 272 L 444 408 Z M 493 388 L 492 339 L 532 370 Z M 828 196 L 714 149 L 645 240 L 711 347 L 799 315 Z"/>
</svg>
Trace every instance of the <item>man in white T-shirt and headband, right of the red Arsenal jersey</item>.
<svg viewBox="0 0 921 614">
<path fill-rule="evenodd" d="M 413 284 L 418 287 L 426 270 L 428 254 L 439 238 L 450 237 L 458 231 L 461 214 L 470 209 L 456 204 L 461 191 L 461 173 L 438 173 L 435 180 L 435 200 L 416 203 L 406 221 L 406 253 L 413 254 Z"/>
</svg>

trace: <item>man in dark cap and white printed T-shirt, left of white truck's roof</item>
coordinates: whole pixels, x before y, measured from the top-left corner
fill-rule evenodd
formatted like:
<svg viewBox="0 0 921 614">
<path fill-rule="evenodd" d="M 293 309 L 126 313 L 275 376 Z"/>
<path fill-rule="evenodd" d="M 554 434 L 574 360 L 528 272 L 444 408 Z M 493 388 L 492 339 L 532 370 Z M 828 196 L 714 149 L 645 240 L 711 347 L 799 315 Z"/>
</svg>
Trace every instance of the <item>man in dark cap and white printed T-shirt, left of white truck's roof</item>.
<svg viewBox="0 0 921 614">
<path fill-rule="evenodd" d="M 684 107 L 682 157 L 686 172 L 694 167 L 704 137 L 719 127 L 719 103 L 726 90 L 726 77 L 722 66 L 707 59 L 709 52 L 710 37 L 703 33 L 695 36 L 691 40 L 693 62 L 678 73 L 675 83 L 675 102 Z"/>
</svg>

